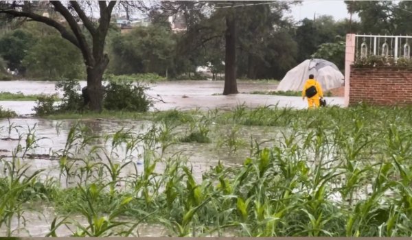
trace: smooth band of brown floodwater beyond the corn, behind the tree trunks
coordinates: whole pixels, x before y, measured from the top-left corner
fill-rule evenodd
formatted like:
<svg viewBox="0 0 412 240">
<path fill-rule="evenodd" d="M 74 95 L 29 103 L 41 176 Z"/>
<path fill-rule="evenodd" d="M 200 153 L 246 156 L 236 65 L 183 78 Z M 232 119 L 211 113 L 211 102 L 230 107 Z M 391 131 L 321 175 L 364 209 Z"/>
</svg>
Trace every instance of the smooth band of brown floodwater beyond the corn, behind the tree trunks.
<svg viewBox="0 0 412 240">
<path fill-rule="evenodd" d="M 0 89 L 3 92 L 17 93 L 25 95 L 58 93 L 54 88 L 55 82 L 34 82 L 34 81 L 8 81 L 0 82 Z M 152 97 L 163 99 L 164 102 L 156 101 L 152 110 L 181 109 L 189 110 L 201 108 L 203 110 L 214 108 L 233 108 L 239 104 L 246 106 L 267 106 L 276 105 L 279 107 L 306 108 L 306 101 L 301 97 L 287 97 L 275 95 L 251 95 L 253 91 L 275 91 L 277 84 L 267 82 L 238 82 L 239 94 L 221 95 L 223 91 L 223 81 L 176 81 L 157 82 L 150 84 L 150 89 L 146 93 Z M 80 82 L 81 86 L 86 86 L 86 82 Z M 61 93 L 59 93 L 61 95 Z M 325 97 L 330 105 L 343 106 L 343 97 Z M 0 106 L 14 110 L 18 115 L 31 115 L 35 101 L 0 101 Z"/>
</svg>

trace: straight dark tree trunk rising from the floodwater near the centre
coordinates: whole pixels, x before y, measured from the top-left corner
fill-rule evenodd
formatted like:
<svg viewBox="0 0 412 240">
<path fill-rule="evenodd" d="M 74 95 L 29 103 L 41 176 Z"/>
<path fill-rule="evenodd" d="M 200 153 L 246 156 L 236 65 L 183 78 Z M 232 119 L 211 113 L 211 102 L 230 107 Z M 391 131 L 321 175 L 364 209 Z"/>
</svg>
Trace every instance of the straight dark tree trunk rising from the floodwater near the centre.
<svg viewBox="0 0 412 240">
<path fill-rule="evenodd" d="M 239 93 L 236 83 L 236 20 L 233 12 L 226 16 L 225 88 L 223 95 Z"/>
</svg>

